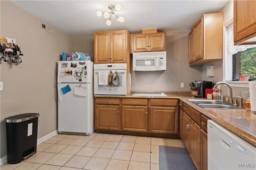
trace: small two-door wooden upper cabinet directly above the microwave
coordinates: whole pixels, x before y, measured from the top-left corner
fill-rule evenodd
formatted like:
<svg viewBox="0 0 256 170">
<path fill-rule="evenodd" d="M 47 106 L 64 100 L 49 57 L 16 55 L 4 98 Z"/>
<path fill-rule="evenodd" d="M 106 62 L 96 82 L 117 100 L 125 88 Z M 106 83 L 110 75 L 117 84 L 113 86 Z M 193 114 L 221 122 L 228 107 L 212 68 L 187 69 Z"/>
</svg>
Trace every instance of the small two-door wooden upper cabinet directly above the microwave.
<svg viewBox="0 0 256 170">
<path fill-rule="evenodd" d="M 133 34 L 131 38 L 131 51 L 148 52 L 148 51 L 165 51 L 166 50 L 166 33 L 142 33 Z"/>
</svg>

